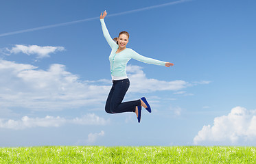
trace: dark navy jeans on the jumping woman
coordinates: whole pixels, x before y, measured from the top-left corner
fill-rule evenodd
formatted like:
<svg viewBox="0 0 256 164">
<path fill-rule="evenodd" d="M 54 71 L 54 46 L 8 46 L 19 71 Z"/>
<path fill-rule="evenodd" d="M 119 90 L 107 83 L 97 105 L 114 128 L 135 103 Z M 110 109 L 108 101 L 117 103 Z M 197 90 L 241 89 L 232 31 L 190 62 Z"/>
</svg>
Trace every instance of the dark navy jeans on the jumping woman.
<svg viewBox="0 0 256 164">
<path fill-rule="evenodd" d="M 135 112 L 136 106 L 141 106 L 141 100 L 122 102 L 129 86 L 129 79 L 113 81 L 106 100 L 106 113 Z"/>
</svg>

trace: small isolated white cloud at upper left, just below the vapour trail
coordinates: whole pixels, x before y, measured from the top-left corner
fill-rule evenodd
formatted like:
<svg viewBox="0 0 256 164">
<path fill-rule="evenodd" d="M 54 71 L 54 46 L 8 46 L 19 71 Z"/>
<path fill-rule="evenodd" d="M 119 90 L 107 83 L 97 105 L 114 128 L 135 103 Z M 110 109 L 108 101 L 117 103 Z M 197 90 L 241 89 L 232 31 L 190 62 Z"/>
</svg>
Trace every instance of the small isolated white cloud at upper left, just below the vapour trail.
<svg viewBox="0 0 256 164">
<path fill-rule="evenodd" d="M 49 57 L 49 53 L 56 51 L 64 51 L 62 46 L 37 46 L 37 45 L 21 45 L 16 44 L 12 49 L 7 49 L 10 53 L 25 53 L 27 55 L 36 55 L 36 58 Z"/>
</svg>

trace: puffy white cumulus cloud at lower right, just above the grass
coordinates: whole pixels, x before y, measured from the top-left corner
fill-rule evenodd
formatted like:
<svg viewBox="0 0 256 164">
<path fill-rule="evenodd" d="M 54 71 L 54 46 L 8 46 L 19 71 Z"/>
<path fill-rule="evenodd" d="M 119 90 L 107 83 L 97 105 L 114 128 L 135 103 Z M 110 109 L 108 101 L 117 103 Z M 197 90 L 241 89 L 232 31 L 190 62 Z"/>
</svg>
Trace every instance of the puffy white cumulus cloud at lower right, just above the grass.
<svg viewBox="0 0 256 164">
<path fill-rule="evenodd" d="M 228 115 L 214 119 L 213 126 L 203 126 L 194 144 L 246 144 L 256 139 L 256 110 L 235 107 Z"/>
</svg>

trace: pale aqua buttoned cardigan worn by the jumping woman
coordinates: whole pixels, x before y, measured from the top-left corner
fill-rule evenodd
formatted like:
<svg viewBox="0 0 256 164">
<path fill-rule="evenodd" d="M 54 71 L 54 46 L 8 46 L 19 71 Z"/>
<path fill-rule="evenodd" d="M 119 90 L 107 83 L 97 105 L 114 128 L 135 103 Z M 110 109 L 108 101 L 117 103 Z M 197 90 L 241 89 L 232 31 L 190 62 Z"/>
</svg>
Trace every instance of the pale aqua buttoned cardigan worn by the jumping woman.
<svg viewBox="0 0 256 164">
<path fill-rule="evenodd" d="M 136 59 L 147 64 L 165 66 L 165 61 L 159 61 L 149 57 L 143 57 L 142 55 L 139 55 L 139 53 L 136 53 L 132 49 L 126 48 L 123 51 L 116 53 L 118 49 L 118 44 L 110 37 L 108 29 L 106 28 L 106 24 L 104 23 L 104 19 L 100 19 L 100 22 L 102 24 L 102 31 L 104 37 L 106 38 L 106 41 L 112 49 L 109 55 L 110 70 L 112 77 L 127 77 L 126 65 L 130 59 Z"/>
</svg>

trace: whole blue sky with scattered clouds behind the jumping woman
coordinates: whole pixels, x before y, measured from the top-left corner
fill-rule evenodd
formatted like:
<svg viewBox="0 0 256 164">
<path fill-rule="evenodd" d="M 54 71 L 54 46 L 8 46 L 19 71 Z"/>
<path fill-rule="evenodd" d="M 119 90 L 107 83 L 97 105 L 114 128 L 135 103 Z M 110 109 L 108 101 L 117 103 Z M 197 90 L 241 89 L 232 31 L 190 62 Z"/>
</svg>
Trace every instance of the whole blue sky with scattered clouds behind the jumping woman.
<svg viewBox="0 0 256 164">
<path fill-rule="evenodd" d="M 249 0 L 2 1 L 0 146 L 255 146 L 255 8 Z M 129 61 L 125 100 L 146 96 L 152 107 L 140 124 L 134 113 L 104 111 L 104 10 L 112 38 L 128 31 L 127 47 L 174 63 Z"/>
</svg>

